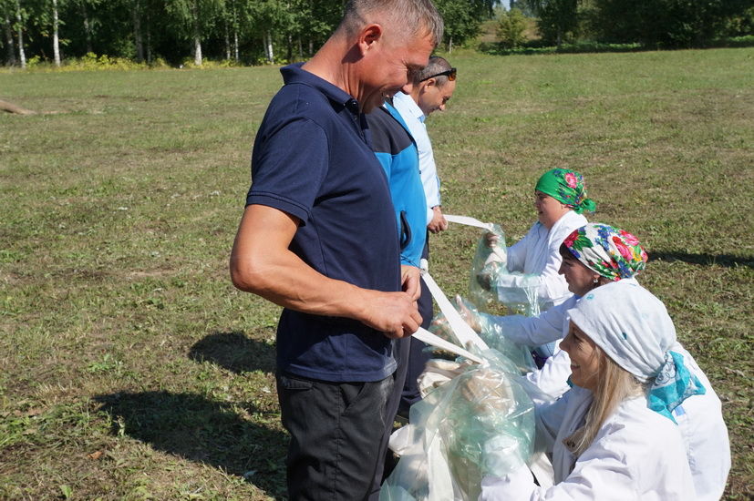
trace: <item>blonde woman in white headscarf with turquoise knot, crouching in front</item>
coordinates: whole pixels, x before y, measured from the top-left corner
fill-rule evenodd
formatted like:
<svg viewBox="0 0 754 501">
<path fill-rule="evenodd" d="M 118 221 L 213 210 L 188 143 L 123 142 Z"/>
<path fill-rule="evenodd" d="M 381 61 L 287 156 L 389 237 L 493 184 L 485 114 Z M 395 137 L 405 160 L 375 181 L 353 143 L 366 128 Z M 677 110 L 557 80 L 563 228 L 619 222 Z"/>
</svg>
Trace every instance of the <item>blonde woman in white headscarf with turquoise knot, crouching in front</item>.
<svg viewBox="0 0 754 501">
<path fill-rule="evenodd" d="M 573 388 L 537 415 L 555 485 L 536 486 L 522 467 L 485 477 L 480 499 L 699 498 L 673 412 L 711 388 L 677 351 L 663 303 L 635 282 L 616 281 L 588 292 L 569 316 L 561 348 Z"/>
</svg>

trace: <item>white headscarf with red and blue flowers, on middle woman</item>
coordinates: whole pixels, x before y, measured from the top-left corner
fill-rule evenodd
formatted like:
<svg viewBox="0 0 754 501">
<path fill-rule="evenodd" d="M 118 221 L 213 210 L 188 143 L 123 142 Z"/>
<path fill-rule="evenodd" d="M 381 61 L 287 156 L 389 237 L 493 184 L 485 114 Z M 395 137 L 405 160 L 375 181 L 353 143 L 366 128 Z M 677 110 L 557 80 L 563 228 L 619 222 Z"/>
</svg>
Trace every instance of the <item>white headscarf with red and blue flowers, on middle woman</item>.
<svg viewBox="0 0 754 501">
<path fill-rule="evenodd" d="M 563 245 L 584 266 L 612 281 L 633 277 L 648 259 L 634 235 L 598 222 L 573 230 Z"/>
</svg>

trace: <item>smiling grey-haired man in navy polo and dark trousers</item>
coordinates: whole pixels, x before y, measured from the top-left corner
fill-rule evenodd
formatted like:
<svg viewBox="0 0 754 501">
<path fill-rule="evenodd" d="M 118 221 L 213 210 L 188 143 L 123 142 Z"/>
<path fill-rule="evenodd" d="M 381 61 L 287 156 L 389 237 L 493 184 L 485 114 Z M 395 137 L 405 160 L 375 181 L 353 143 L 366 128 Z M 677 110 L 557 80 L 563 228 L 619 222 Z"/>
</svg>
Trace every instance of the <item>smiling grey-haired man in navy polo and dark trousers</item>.
<svg viewBox="0 0 754 501">
<path fill-rule="evenodd" d="M 231 276 L 284 306 L 277 388 L 291 499 L 377 496 L 388 396 L 399 393 L 391 340 L 421 317 L 364 113 L 425 66 L 441 36 L 430 0 L 350 0 L 325 46 L 281 70 L 254 141 Z"/>
</svg>

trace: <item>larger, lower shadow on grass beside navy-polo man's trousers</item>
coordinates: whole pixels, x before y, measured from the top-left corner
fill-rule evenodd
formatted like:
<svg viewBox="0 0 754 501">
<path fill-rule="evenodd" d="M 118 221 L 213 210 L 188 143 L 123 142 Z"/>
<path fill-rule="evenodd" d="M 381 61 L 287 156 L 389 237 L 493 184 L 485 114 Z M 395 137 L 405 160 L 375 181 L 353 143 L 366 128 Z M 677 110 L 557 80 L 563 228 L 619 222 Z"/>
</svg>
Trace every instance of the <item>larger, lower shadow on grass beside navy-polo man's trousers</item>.
<svg viewBox="0 0 754 501">
<path fill-rule="evenodd" d="M 111 416 L 113 435 L 243 476 L 268 496 L 285 496 L 287 435 L 243 419 L 232 404 L 168 392 L 106 394 L 95 400 Z"/>
</svg>

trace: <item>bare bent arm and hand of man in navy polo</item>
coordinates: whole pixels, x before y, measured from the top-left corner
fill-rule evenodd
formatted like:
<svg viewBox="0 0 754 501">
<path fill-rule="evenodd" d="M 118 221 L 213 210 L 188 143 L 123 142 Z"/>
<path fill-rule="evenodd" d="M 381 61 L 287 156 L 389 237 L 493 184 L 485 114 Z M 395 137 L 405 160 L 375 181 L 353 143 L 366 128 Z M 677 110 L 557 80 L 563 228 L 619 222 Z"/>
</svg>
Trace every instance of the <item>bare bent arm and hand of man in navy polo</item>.
<svg viewBox="0 0 754 501">
<path fill-rule="evenodd" d="M 242 291 L 299 312 L 355 319 L 388 337 L 416 332 L 421 322 L 406 292 L 361 289 L 325 277 L 288 250 L 298 228 L 293 216 L 250 205 L 231 253 L 231 279 Z"/>
</svg>

